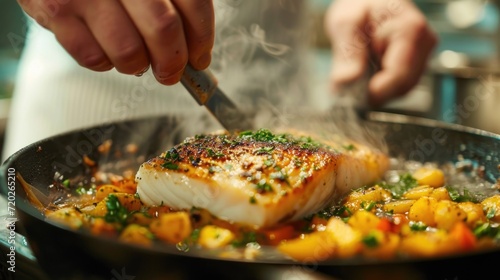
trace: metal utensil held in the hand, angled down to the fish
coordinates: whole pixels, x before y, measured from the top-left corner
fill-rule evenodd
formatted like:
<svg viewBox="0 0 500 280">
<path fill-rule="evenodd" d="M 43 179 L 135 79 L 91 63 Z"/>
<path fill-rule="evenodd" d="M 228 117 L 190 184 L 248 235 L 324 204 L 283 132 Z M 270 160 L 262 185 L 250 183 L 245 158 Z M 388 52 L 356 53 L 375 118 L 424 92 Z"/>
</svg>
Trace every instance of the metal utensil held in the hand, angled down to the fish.
<svg viewBox="0 0 500 280">
<path fill-rule="evenodd" d="M 205 106 L 226 130 L 254 128 L 248 115 L 220 90 L 217 79 L 209 70 L 195 70 L 188 64 L 181 83 L 198 104 Z"/>
</svg>

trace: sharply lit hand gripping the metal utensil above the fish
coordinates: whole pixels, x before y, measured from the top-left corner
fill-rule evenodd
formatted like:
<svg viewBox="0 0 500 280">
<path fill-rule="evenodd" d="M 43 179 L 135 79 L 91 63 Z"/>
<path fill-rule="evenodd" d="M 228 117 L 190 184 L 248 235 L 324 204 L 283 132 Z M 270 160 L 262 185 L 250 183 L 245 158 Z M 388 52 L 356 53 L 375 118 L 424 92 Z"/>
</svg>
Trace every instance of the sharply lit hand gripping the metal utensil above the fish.
<svg viewBox="0 0 500 280">
<path fill-rule="evenodd" d="M 189 61 L 208 67 L 214 43 L 212 0 L 18 0 L 66 51 L 94 71 L 116 68 L 177 83 Z"/>
</svg>

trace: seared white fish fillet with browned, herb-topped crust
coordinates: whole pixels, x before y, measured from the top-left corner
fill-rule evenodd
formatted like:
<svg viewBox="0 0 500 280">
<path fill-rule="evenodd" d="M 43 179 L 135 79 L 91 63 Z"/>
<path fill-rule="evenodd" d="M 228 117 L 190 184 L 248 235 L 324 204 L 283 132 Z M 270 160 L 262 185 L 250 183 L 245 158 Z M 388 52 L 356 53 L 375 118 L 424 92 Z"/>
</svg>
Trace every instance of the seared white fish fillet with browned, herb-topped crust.
<svg viewBox="0 0 500 280">
<path fill-rule="evenodd" d="M 264 129 L 198 135 L 143 163 L 137 192 L 146 205 L 204 208 L 221 219 L 268 227 L 380 179 L 388 162 L 355 143 L 326 145 Z"/>
</svg>

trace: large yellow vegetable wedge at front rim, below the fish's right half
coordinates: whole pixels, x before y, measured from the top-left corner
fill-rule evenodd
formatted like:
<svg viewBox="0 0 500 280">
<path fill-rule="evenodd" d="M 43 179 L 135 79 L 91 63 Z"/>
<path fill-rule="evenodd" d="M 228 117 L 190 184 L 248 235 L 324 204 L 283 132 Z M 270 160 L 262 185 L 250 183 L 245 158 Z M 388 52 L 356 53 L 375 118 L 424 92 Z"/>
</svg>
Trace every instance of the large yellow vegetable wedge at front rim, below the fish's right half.
<svg viewBox="0 0 500 280">
<path fill-rule="evenodd" d="M 301 262 L 318 262 L 335 256 L 337 244 L 327 231 L 315 231 L 278 245 L 283 254 Z"/>
</svg>

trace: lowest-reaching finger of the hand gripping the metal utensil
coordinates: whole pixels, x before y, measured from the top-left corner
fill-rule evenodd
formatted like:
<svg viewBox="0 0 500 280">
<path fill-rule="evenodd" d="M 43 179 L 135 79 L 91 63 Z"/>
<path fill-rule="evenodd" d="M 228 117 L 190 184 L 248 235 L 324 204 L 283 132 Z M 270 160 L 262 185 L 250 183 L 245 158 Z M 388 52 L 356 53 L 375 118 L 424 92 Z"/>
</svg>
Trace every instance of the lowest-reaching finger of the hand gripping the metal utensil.
<svg viewBox="0 0 500 280">
<path fill-rule="evenodd" d="M 177 83 L 188 61 L 181 16 L 170 0 L 122 0 L 137 26 L 151 59 L 156 79 Z"/>
</svg>

